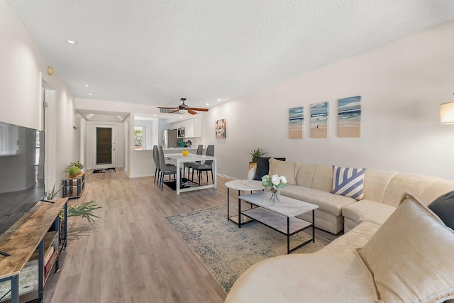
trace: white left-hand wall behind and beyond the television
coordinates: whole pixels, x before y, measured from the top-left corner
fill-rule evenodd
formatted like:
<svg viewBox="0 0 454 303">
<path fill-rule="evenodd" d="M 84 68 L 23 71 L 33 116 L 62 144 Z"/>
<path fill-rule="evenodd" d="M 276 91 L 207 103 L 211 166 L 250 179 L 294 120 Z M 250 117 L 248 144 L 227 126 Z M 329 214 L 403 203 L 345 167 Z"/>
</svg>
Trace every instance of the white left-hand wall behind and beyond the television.
<svg viewBox="0 0 454 303">
<path fill-rule="evenodd" d="M 46 189 L 60 184 L 65 166 L 79 158 L 79 133 L 72 126 L 79 124 L 74 111 L 74 96 L 55 70 L 47 75 L 49 60 L 18 20 L 6 0 L 0 0 L 0 121 L 43 129 L 41 87 L 55 90 L 50 101 L 46 128 Z M 57 142 L 55 144 L 55 142 Z"/>
</svg>

